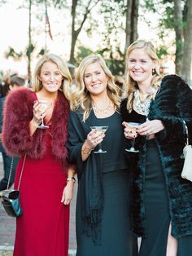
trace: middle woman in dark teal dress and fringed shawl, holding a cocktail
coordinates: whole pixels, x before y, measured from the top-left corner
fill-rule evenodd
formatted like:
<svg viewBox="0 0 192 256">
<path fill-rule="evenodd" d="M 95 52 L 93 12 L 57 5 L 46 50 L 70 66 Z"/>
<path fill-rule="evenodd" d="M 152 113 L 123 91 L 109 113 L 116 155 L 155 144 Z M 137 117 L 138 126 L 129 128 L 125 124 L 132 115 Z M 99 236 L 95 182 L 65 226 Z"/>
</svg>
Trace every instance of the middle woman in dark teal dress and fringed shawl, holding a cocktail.
<svg viewBox="0 0 192 256">
<path fill-rule="evenodd" d="M 67 146 L 78 175 L 76 255 L 137 255 L 130 230 L 130 172 L 118 112 L 120 98 L 101 56 L 82 60 L 71 99 Z M 103 152 L 98 151 L 100 143 Z"/>
</svg>

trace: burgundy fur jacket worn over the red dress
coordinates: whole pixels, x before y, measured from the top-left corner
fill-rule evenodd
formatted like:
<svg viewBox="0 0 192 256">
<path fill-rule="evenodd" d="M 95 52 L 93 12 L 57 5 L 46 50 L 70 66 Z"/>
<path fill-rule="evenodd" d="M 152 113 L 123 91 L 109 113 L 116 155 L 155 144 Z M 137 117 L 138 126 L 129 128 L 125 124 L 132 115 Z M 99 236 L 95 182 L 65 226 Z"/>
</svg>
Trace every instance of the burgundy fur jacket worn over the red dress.
<svg viewBox="0 0 192 256">
<path fill-rule="evenodd" d="M 26 153 L 32 159 L 41 159 L 45 155 L 45 130 L 37 129 L 33 136 L 29 133 L 34 100 L 34 93 L 26 88 L 7 95 L 3 110 L 2 143 L 12 156 L 20 157 Z M 65 147 L 68 138 L 68 112 L 68 100 L 59 91 L 51 118 L 51 148 L 54 157 L 61 161 L 68 157 Z"/>
</svg>

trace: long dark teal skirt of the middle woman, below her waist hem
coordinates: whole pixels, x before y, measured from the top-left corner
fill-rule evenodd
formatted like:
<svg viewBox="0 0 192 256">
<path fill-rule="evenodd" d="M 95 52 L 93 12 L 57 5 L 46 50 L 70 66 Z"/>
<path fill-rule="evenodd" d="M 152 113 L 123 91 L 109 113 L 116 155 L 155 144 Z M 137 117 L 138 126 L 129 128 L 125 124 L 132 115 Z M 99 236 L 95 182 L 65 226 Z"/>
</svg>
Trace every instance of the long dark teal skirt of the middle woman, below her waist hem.
<svg viewBox="0 0 192 256">
<path fill-rule="evenodd" d="M 81 181 L 79 186 L 81 187 Z M 128 170 L 103 173 L 103 218 L 101 245 L 82 234 L 81 205 L 76 207 L 76 256 L 137 256 L 137 239 L 130 228 L 130 174 Z M 81 195 L 77 193 L 77 201 Z"/>
</svg>

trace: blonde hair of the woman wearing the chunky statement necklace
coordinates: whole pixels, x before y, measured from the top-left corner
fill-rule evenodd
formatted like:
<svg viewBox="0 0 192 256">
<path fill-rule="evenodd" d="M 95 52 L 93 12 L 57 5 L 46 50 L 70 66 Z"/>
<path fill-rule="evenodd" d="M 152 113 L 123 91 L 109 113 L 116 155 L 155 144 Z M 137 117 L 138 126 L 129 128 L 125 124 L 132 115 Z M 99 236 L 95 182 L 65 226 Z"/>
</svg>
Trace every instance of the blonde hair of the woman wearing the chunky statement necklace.
<svg viewBox="0 0 192 256">
<path fill-rule="evenodd" d="M 128 60 L 129 55 L 135 49 L 143 49 L 146 54 L 155 62 L 155 64 L 159 64 L 159 58 L 156 55 L 155 47 L 151 42 L 147 42 L 145 40 L 137 40 L 133 42 L 126 51 L 126 74 L 125 74 L 125 85 L 124 85 L 124 95 L 128 98 L 127 109 L 129 113 L 133 110 L 133 99 L 134 99 L 134 92 L 138 89 L 137 82 L 130 77 L 128 72 Z M 152 70 L 151 70 L 152 72 Z M 157 68 L 154 70 L 154 76 L 151 82 L 151 86 L 155 87 L 156 91 L 159 90 L 160 82 L 162 81 L 162 77 L 160 76 Z M 151 95 L 149 95 L 151 96 Z M 155 95 L 153 95 L 155 97 Z"/>
</svg>

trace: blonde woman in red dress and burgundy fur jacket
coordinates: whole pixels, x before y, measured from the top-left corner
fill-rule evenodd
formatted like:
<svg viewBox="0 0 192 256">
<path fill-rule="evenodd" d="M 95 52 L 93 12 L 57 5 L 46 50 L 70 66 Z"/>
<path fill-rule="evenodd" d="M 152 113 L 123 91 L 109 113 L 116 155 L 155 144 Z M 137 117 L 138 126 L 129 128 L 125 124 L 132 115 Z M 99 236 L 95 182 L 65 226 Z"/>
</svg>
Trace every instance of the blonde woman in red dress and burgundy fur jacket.
<svg viewBox="0 0 192 256">
<path fill-rule="evenodd" d="M 69 203 L 74 171 L 68 166 L 68 94 L 72 78 L 54 54 L 44 55 L 33 76 L 33 91 L 7 96 L 2 139 L 19 156 L 15 174 L 23 214 L 16 221 L 14 256 L 67 256 Z M 45 126 L 42 127 L 42 124 Z"/>
</svg>

